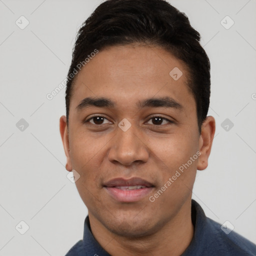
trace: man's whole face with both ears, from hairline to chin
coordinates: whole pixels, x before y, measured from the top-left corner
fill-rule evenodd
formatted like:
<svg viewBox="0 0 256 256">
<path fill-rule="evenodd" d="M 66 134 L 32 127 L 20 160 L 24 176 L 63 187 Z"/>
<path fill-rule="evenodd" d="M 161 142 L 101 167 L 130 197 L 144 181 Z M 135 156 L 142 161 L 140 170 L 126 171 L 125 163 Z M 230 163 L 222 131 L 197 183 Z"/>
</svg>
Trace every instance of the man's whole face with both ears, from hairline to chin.
<svg viewBox="0 0 256 256">
<path fill-rule="evenodd" d="M 150 234 L 175 218 L 207 166 L 214 119 L 199 135 L 187 78 L 181 60 L 143 45 L 99 51 L 76 76 L 69 134 L 60 118 L 66 169 L 80 175 L 89 218 L 115 234 Z"/>
</svg>

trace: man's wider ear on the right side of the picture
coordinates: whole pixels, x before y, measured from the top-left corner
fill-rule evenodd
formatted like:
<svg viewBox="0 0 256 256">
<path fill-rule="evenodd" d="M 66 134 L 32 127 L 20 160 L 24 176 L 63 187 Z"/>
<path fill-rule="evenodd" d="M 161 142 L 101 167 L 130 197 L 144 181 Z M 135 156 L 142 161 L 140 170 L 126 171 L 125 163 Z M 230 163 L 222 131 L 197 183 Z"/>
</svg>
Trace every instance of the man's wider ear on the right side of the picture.
<svg viewBox="0 0 256 256">
<path fill-rule="evenodd" d="M 215 119 L 212 116 L 207 116 L 201 126 L 201 134 L 199 137 L 199 151 L 201 152 L 197 169 L 204 170 L 208 166 L 208 157 L 215 133 Z"/>
</svg>

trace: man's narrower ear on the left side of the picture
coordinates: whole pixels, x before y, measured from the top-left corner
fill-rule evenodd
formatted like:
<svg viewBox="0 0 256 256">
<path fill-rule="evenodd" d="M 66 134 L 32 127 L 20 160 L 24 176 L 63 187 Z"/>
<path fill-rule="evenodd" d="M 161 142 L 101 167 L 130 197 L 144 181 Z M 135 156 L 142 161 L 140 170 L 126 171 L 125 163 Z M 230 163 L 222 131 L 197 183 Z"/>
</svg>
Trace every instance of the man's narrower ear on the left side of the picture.
<svg viewBox="0 0 256 256">
<path fill-rule="evenodd" d="M 68 140 L 68 130 L 67 130 L 67 123 L 66 123 L 66 116 L 62 115 L 59 119 L 59 131 L 66 155 L 66 170 L 72 170 L 71 159 L 69 155 L 69 140 Z"/>
</svg>

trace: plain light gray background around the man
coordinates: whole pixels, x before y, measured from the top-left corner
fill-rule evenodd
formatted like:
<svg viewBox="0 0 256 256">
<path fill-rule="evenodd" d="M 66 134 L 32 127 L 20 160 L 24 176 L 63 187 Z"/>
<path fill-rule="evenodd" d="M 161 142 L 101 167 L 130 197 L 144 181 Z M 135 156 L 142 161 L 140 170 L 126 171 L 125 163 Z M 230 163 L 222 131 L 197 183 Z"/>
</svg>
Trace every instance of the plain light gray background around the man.
<svg viewBox="0 0 256 256">
<path fill-rule="evenodd" d="M 46 94 L 65 78 L 76 32 L 100 2 L 0 0 L 0 255 L 64 255 L 82 238 L 87 209 L 66 177 L 59 134 L 65 89 L 52 100 Z M 256 0 L 170 2 L 201 33 L 211 61 L 216 133 L 193 198 L 255 243 Z M 24 29 L 15 24 L 21 15 Z M 220 23 L 226 15 L 229 29 Z M 23 131 L 21 118 L 29 124 Z M 226 118 L 234 124 L 228 131 Z M 29 226 L 23 235 L 15 229 L 21 220 Z"/>
</svg>

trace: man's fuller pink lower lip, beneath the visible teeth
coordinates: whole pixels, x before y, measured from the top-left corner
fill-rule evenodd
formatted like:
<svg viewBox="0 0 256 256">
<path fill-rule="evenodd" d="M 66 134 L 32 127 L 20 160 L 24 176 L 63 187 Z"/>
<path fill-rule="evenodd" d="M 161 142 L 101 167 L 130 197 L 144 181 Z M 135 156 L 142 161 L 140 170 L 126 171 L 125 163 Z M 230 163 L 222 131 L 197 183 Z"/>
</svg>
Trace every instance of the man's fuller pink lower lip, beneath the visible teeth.
<svg viewBox="0 0 256 256">
<path fill-rule="evenodd" d="M 107 192 L 119 202 L 135 202 L 144 198 L 153 187 L 144 187 L 139 189 L 123 190 L 116 187 L 104 187 Z"/>
</svg>

